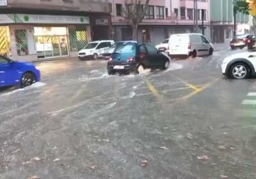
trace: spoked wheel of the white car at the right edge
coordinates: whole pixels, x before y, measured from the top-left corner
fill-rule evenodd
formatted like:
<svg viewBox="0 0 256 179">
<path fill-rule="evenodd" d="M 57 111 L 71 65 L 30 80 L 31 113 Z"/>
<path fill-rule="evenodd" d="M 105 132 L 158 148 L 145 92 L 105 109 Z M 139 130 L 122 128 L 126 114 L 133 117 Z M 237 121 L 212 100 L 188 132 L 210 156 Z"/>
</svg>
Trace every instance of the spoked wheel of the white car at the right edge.
<svg viewBox="0 0 256 179">
<path fill-rule="evenodd" d="M 229 77 L 232 79 L 246 79 L 250 76 L 250 68 L 246 63 L 235 63 L 229 69 Z"/>
</svg>

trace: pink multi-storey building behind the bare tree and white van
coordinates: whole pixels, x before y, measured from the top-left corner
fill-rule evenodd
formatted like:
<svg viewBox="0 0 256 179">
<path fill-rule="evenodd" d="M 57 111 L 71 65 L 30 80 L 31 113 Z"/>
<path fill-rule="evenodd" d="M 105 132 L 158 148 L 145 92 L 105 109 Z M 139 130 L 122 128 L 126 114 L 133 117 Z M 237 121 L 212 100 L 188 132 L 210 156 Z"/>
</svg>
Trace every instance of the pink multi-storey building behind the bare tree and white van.
<svg viewBox="0 0 256 179">
<path fill-rule="evenodd" d="M 148 12 L 142 20 L 138 40 L 157 44 L 173 33 L 194 31 L 193 0 L 150 0 Z M 109 0 L 112 6 L 113 38 L 116 41 L 131 38 L 131 29 L 123 17 L 125 0 Z M 144 4 L 145 0 L 141 0 Z M 202 32 L 202 12 L 205 12 L 205 35 L 210 38 L 209 0 L 198 0 L 198 32 Z"/>
</svg>

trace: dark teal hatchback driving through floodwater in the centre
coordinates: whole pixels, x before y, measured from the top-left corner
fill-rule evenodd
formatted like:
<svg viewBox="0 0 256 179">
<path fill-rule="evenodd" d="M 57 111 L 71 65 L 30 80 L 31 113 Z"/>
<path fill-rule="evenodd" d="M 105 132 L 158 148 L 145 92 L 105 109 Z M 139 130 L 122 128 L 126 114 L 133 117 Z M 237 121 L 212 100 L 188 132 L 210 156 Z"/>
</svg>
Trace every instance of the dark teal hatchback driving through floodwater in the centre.
<svg viewBox="0 0 256 179">
<path fill-rule="evenodd" d="M 170 60 L 155 47 L 148 44 L 127 43 L 116 47 L 108 61 L 108 74 L 116 72 L 143 72 L 145 68 L 166 69 Z"/>
</svg>

